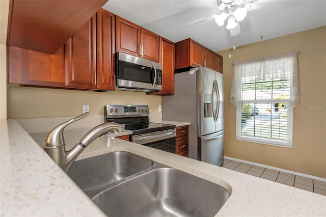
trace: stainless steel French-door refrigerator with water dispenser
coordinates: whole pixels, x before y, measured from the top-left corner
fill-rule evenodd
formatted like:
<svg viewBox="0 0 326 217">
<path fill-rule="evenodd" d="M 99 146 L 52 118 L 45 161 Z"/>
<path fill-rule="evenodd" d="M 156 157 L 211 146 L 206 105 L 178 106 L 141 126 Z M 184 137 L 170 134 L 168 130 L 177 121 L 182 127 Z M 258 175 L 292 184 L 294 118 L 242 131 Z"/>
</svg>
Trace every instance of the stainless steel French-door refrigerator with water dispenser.
<svg viewBox="0 0 326 217">
<path fill-rule="evenodd" d="M 191 122 L 189 157 L 224 160 L 223 74 L 200 67 L 175 74 L 174 95 L 162 96 L 162 119 Z"/>
</svg>

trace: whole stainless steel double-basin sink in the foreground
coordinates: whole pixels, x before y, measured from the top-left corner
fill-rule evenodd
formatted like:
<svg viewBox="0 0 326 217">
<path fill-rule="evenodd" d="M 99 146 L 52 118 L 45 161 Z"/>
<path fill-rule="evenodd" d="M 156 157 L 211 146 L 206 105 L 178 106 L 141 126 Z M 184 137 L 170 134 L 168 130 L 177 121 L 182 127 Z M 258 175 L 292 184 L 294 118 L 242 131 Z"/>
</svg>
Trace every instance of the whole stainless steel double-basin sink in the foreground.
<svg viewBox="0 0 326 217">
<path fill-rule="evenodd" d="M 222 186 L 129 152 L 75 161 L 70 178 L 108 216 L 213 216 Z"/>
</svg>

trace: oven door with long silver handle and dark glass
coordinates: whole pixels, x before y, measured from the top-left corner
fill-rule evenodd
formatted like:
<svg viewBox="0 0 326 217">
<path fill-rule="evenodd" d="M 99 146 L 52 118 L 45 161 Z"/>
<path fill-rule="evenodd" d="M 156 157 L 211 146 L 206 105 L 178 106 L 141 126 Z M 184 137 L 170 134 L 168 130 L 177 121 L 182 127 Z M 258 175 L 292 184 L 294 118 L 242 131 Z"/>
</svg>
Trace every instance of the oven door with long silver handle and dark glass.
<svg viewBox="0 0 326 217">
<path fill-rule="evenodd" d="M 175 154 L 176 129 L 132 135 L 132 142 Z"/>
</svg>

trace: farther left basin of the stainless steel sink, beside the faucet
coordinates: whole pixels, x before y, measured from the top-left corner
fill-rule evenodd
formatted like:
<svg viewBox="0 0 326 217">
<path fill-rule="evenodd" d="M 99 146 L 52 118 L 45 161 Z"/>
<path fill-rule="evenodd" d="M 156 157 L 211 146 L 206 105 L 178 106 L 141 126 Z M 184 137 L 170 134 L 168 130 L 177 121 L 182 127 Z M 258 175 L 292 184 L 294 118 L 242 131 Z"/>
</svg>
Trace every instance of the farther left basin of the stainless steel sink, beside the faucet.
<svg viewBox="0 0 326 217">
<path fill-rule="evenodd" d="M 70 178 L 90 197 L 114 183 L 150 168 L 153 161 L 129 152 L 116 151 L 75 161 Z"/>
</svg>

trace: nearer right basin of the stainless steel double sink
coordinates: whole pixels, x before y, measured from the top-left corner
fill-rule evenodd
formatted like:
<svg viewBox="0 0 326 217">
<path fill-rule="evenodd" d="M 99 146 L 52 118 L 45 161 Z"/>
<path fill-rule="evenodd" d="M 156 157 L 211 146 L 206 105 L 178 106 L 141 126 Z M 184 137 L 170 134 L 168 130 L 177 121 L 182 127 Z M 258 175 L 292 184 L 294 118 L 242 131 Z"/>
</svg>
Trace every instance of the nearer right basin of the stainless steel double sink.
<svg viewBox="0 0 326 217">
<path fill-rule="evenodd" d="M 92 201 L 108 216 L 213 216 L 229 196 L 218 184 L 160 168 L 110 187 Z"/>
</svg>

